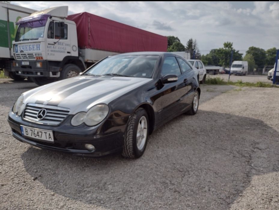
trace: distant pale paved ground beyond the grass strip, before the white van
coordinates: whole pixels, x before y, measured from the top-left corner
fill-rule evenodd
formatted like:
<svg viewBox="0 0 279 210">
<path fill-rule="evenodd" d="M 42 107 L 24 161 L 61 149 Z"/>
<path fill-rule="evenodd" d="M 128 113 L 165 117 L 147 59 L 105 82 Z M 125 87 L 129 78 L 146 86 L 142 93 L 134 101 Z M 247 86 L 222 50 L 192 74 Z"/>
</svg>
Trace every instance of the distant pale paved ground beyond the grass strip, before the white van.
<svg viewBox="0 0 279 210">
<path fill-rule="evenodd" d="M 223 78 L 224 81 L 228 81 L 229 75 L 207 75 L 207 77 L 215 78 L 220 77 Z M 267 82 L 272 83 L 272 81 L 267 79 L 267 76 L 259 76 L 259 75 L 246 75 L 246 76 L 238 76 L 238 75 L 231 75 L 230 81 L 237 82 L 238 80 L 242 80 L 242 82 Z"/>
</svg>

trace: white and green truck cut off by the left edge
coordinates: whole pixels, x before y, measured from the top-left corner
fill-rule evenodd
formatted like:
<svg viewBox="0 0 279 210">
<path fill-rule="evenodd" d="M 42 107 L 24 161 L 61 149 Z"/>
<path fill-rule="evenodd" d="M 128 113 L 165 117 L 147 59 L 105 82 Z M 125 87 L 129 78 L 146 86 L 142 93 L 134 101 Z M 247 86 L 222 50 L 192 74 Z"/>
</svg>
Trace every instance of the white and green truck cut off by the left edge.
<svg viewBox="0 0 279 210">
<path fill-rule="evenodd" d="M 16 22 L 33 12 L 35 10 L 0 2 L 0 69 L 4 69 L 5 76 L 10 76 L 14 80 L 25 79 L 11 72 L 11 61 L 14 60 L 11 49 L 17 32 Z"/>
</svg>

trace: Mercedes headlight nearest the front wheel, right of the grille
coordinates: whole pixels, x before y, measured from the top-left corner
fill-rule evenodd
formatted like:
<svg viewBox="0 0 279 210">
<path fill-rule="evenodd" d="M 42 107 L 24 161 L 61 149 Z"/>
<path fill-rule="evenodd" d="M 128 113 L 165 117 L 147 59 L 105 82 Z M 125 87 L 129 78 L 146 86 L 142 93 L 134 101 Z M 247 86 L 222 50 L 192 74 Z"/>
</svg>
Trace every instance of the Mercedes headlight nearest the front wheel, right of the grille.
<svg viewBox="0 0 279 210">
<path fill-rule="evenodd" d="M 108 105 L 99 104 L 93 106 L 87 112 L 77 113 L 71 120 L 73 126 L 81 125 L 85 123 L 87 126 L 94 126 L 102 122 L 108 115 Z"/>
</svg>

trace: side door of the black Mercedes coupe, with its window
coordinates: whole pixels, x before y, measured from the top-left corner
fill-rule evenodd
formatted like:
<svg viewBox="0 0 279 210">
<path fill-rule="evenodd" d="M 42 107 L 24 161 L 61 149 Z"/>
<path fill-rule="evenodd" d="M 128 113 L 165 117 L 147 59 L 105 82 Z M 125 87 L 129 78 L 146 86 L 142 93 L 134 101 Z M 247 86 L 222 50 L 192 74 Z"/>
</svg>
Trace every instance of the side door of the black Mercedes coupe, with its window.
<svg viewBox="0 0 279 210">
<path fill-rule="evenodd" d="M 177 107 L 181 98 L 187 97 L 187 85 L 185 75 L 181 74 L 180 66 L 178 65 L 175 56 L 168 56 L 164 59 L 161 78 L 165 75 L 176 75 L 176 82 L 163 84 L 160 89 L 160 110 L 158 111 L 160 121 L 179 113 Z"/>
</svg>

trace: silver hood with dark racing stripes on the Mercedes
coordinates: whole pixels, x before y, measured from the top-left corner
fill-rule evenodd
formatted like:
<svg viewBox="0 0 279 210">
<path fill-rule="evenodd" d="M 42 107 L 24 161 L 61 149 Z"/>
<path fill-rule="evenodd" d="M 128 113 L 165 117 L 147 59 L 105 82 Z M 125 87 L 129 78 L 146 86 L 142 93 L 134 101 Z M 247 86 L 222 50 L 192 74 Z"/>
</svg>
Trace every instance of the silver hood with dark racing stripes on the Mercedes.
<svg viewBox="0 0 279 210">
<path fill-rule="evenodd" d="M 71 110 L 69 114 L 76 114 L 80 111 L 88 111 L 97 104 L 108 104 L 151 80 L 117 76 L 78 76 L 23 93 L 24 104 L 59 106 L 69 108 Z"/>
</svg>

